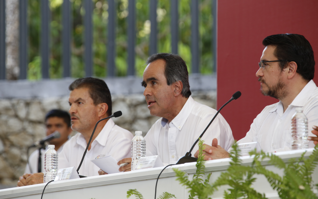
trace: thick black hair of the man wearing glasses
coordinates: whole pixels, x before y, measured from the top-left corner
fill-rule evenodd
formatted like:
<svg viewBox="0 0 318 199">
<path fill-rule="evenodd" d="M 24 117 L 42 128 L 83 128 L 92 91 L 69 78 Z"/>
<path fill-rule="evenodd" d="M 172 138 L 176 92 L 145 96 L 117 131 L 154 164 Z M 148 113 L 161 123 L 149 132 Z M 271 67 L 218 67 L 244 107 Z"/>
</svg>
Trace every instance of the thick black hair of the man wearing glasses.
<svg viewBox="0 0 318 199">
<path fill-rule="evenodd" d="M 299 34 L 276 34 L 263 40 L 264 46 L 276 47 L 274 56 L 278 60 L 290 60 L 297 63 L 297 73 L 303 79 L 310 81 L 314 79 L 315 59 L 314 52 L 309 41 Z M 288 61 L 279 63 L 280 69 L 287 67 Z"/>
</svg>

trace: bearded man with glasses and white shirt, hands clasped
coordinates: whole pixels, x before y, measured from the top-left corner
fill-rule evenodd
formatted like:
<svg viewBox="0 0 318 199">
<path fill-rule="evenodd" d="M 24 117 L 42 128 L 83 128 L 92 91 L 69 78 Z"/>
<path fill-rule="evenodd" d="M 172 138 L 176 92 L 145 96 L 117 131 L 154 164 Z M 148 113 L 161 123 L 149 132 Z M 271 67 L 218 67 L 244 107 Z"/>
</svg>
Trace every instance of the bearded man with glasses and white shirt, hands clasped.
<svg viewBox="0 0 318 199">
<path fill-rule="evenodd" d="M 277 34 L 263 40 L 265 46 L 256 76 L 264 96 L 280 101 L 266 106 L 254 119 L 245 138 L 238 143 L 258 142 L 264 152 L 291 150 L 291 119 L 296 107 L 308 117 L 309 148 L 318 139 L 318 88 L 314 78 L 314 52 L 307 39 L 298 34 Z M 198 151 L 195 153 L 197 157 Z M 205 160 L 228 158 L 229 153 L 213 139 L 204 149 Z"/>
</svg>

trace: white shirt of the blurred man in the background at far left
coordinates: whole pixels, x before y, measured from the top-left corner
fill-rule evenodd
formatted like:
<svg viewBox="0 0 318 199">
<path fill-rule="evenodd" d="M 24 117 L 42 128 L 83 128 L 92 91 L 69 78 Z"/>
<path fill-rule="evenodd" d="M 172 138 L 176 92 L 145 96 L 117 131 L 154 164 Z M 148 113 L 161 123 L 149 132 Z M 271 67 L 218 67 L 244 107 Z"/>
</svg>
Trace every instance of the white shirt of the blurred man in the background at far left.
<svg viewBox="0 0 318 199">
<path fill-rule="evenodd" d="M 58 154 L 61 153 L 65 143 L 62 146 L 60 146 L 59 149 L 56 151 Z M 42 173 L 44 172 L 44 155 L 47 149 L 48 149 L 47 146 L 45 147 L 45 149 L 41 149 L 41 172 Z M 39 158 L 39 150 L 37 149 L 33 153 L 31 153 L 29 157 L 29 164 L 31 167 L 29 167 L 29 164 L 26 164 L 24 173 L 27 173 L 27 174 L 38 173 L 38 158 Z"/>
</svg>

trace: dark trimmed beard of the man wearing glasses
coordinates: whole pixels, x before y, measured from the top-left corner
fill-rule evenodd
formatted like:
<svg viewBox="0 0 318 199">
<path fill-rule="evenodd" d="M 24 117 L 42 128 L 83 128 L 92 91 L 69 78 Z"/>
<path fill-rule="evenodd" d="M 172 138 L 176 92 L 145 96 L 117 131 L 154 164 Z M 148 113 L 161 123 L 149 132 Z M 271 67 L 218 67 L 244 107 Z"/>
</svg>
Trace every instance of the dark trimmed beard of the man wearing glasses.
<svg viewBox="0 0 318 199">
<path fill-rule="evenodd" d="M 262 79 L 262 77 L 260 77 L 258 79 L 259 82 L 265 83 L 266 82 Z M 273 97 L 275 99 L 278 100 L 282 100 L 284 99 L 288 92 L 285 89 L 286 88 L 286 84 L 284 84 L 283 82 L 281 82 L 281 80 L 279 79 L 278 82 L 276 83 L 276 85 L 274 86 L 269 86 L 268 84 L 266 84 L 266 86 L 268 87 L 268 90 L 264 90 L 262 85 L 260 86 L 260 92 L 264 95 L 264 96 L 270 96 Z"/>
</svg>

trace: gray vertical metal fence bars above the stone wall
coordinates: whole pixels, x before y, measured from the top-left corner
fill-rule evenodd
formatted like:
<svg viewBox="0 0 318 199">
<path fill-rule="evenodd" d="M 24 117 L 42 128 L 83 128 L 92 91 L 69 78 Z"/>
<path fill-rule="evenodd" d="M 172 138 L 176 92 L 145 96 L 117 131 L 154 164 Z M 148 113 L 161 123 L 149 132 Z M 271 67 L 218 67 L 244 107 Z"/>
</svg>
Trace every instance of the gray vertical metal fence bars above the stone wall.
<svg viewBox="0 0 318 199">
<path fill-rule="evenodd" d="M 171 47 L 172 53 L 178 53 L 178 0 L 171 1 Z M 213 31 L 212 39 L 212 53 L 214 56 L 214 68 L 216 72 L 216 17 L 217 17 L 217 0 L 212 1 L 212 15 L 213 15 Z M 42 60 L 42 78 L 49 78 L 49 22 L 50 22 L 50 9 L 49 0 L 40 0 L 41 2 L 41 60 Z M 71 67 L 71 5 L 69 0 L 64 0 L 62 4 L 62 66 L 63 77 L 70 77 Z M 149 42 L 149 54 L 157 53 L 157 21 L 156 21 L 156 9 L 157 0 L 149 0 L 150 4 L 150 42 Z M 26 79 L 27 77 L 27 5 L 28 0 L 19 0 L 20 10 L 20 79 Z M 85 45 L 85 72 L 86 76 L 92 76 L 93 74 L 93 2 L 92 0 L 83 0 L 85 8 L 84 16 L 84 45 Z M 115 2 L 114 0 L 108 0 L 108 45 L 107 45 L 107 70 L 108 76 L 115 75 Z M 128 71 L 127 75 L 135 75 L 135 0 L 128 1 Z M 192 73 L 199 73 L 199 11 L 198 0 L 191 0 L 191 54 L 192 54 Z M 5 79 L 5 0 L 0 0 L 0 79 Z"/>
</svg>

